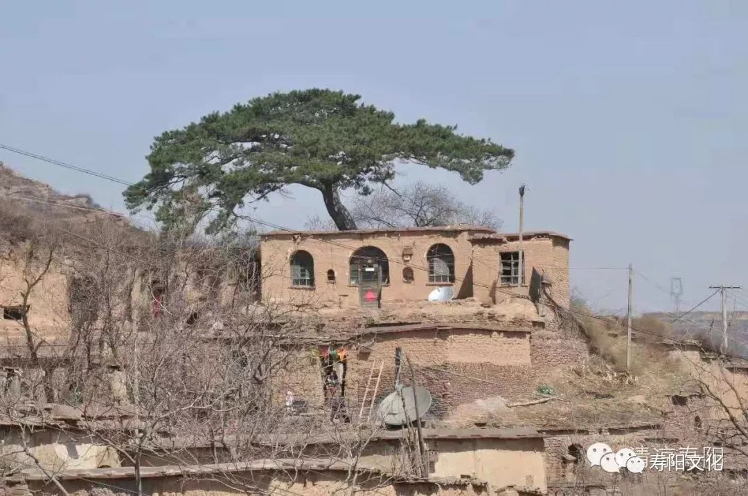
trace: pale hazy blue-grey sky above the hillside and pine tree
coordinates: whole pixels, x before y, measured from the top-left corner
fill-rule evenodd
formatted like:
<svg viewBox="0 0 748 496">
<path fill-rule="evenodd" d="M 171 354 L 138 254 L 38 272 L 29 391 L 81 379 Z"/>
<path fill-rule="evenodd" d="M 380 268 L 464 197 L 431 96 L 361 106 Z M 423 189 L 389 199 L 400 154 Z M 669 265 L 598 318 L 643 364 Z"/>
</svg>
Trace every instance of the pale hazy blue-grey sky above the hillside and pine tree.
<svg viewBox="0 0 748 496">
<path fill-rule="evenodd" d="M 0 5 L 0 143 L 136 182 L 153 137 L 276 90 L 363 96 L 399 122 L 456 124 L 516 151 L 447 185 L 518 228 L 563 232 L 595 309 L 681 309 L 748 288 L 748 3 L 735 1 L 141 1 Z M 123 210 L 121 185 L 0 149 L 0 161 Z M 325 216 L 292 187 L 254 215 Z M 612 267 L 612 268 L 611 268 Z M 732 300 L 732 297 L 736 300 Z M 717 309 L 717 297 L 702 309 Z M 748 289 L 729 297 L 748 309 Z"/>
</svg>

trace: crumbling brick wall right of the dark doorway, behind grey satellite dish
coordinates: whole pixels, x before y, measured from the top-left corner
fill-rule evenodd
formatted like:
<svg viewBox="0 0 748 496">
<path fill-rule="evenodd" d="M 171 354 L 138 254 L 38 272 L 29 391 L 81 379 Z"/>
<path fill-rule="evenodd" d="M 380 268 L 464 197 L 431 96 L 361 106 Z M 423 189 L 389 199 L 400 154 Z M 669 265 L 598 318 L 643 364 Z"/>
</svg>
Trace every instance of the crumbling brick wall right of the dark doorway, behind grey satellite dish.
<svg viewBox="0 0 748 496">
<path fill-rule="evenodd" d="M 428 388 L 432 415 L 443 418 L 457 406 L 485 397 L 527 398 L 531 371 L 530 332 L 497 329 L 413 329 L 361 337 L 349 358 L 349 404 L 360 405 L 372 368 L 370 394 L 384 363 L 378 396 L 393 391 L 396 349 L 411 361 L 418 385 Z M 411 384 L 405 361 L 400 380 Z"/>
</svg>

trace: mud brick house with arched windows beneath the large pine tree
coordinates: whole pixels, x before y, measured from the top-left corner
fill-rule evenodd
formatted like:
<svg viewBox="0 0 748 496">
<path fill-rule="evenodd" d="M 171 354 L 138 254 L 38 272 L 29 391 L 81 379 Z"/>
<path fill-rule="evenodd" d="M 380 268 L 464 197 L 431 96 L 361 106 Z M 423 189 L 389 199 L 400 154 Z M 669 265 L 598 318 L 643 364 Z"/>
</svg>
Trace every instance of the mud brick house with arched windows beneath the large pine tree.
<svg viewBox="0 0 748 496">
<path fill-rule="evenodd" d="M 339 308 L 426 300 L 439 287 L 456 298 L 500 303 L 548 288 L 568 304 L 570 238 L 555 232 L 499 234 L 481 226 L 273 231 L 260 236 L 263 297 Z M 524 267 L 520 267 L 520 250 Z"/>
</svg>

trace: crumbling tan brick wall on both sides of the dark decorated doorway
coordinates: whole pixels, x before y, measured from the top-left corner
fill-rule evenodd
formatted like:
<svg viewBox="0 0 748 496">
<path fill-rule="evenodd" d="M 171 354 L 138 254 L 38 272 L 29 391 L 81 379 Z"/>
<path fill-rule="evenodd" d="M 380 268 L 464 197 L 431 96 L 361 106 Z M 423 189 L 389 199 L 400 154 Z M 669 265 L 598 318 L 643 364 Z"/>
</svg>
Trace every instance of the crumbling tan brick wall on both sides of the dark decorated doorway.
<svg viewBox="0 0 748 496">
<path fill-rule="evenodd" d="M 526 330 L 433 326 L 376 332 L 359 335 L 345 346 L 349 412 L 358 415 L 373 371 L 365 405 L 368 413 L 380 366 L 377 402 L 394 390 L 398 347 L 411 360 L 417 384 L 431 391 L 434 404 L 430 412 L 438 418 L 449 415 L 459 405 L 488 397 L 527 399 L 529 391 L 536 387 L 530 364 L 530 332 Z M 320 365 L 312 358 L 311 348 L 295 352 L 286 367 L 273 376 L 274 397 L 279 403 L 289 390 L 295 399 L 307 401 L 310 408 L 319 408 L 324 403 Z M 400 381 L 406 385 L 413 382 L 405 360 Z"/>
</svg>

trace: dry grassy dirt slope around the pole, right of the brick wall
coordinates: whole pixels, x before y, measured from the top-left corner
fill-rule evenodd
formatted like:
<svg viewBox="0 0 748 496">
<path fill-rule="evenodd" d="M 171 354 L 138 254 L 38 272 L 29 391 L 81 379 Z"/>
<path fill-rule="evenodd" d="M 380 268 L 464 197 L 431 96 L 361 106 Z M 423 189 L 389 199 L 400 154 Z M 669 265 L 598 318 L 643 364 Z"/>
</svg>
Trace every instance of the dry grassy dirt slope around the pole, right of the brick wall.
<svg viewBox="0 0 748 496">
<path fill-rule="evenodd" d="M 627 370 L 625 321 L 610 315 L 600 319 L 586 316 L 592 311 L 583 302 L 576 300 L 573 305 L 577 310 L 574 320 L 592 350 L 589 359 L 544 376 L 557 399 L 512 408 L 512 415 L 497 412 L 488 424 L 584 428 L 663 422 L 672 409 L 670 397 L 681 391 L 689 377 L 666 350 L 654 345 L 662 338 L 637 336 L 631 345 L 631 369 Z M 665 326 L 652 319 L 637 319 L 637 326 L 666 333 Z"/>
</svg>

